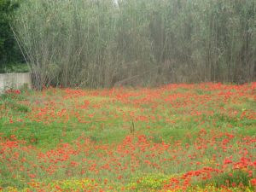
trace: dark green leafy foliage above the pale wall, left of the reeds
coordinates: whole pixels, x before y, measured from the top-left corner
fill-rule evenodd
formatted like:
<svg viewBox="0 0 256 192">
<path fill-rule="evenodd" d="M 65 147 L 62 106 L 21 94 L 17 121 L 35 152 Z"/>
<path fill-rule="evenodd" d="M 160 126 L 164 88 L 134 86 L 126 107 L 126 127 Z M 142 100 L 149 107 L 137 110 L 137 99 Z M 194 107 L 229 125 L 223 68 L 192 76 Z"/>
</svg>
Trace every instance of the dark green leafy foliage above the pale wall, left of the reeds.
<svg viewBox="0 0 256 192">
<path fill-rule="evenodd" d="M 9 26 L 14 10 L 17 8 L 17 2 L 0 0 L 0 68 L 3 68 L 9 62 L 23 61 L 20 49 Z"/>
</svg>

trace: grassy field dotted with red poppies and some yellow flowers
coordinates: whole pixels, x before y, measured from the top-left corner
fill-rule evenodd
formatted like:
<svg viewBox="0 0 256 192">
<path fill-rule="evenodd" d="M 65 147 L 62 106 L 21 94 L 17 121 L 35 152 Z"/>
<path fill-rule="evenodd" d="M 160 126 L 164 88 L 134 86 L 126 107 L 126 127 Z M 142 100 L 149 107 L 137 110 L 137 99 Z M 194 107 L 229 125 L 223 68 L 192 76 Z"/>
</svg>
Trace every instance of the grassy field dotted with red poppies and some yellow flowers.
<svg viewBox="0 0 256 192">
<path fill-rule="evenodd" d="M 0 191 L 256 191 L 256 83 L 9 90 Z"/>
</svg>

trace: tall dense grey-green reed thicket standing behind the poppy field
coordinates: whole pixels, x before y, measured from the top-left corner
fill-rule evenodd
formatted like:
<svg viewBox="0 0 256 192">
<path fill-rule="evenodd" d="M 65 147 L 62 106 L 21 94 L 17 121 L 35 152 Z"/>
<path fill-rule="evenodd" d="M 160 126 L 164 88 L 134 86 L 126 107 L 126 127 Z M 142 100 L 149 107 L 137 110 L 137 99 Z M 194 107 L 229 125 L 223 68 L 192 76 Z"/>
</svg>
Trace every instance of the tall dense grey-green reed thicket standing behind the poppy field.
<svg viewBox="0 0 256 192">
<path fill-rule="evenodd" d="M 255 0 L 26 0 L 14 23 L 36 87 L 243 83 Z"/>
</svg>

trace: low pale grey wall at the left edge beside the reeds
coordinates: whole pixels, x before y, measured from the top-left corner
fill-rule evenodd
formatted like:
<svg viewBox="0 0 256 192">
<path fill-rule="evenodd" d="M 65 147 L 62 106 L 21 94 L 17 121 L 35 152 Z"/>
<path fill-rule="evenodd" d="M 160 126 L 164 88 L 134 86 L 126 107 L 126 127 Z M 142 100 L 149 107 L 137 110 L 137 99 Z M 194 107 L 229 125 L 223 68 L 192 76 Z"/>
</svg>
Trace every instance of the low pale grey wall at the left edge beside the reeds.
<svg viewBox="0 0 256 192">
<path fill-rule="evenodd" d="M 4 90 L 32 88 L 31 73 L 0 73 L 0 93 Z"/>
</svg>

